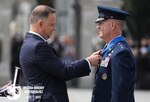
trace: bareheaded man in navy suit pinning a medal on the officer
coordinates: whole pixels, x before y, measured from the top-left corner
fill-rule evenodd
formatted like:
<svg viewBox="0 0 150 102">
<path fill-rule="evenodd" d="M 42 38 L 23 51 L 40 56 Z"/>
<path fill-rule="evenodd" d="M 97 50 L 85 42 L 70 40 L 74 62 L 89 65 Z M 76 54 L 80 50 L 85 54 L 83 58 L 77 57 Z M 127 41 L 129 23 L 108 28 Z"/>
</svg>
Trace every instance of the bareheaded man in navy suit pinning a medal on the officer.
<svg viewBox="0 0 150 102">
<path fill-rule="evenodd" d="M 55 31 L 53 8 L 39 5 L 30 15 L 30 30 L 26 33 L 20 64 L 30 89 L 29 102 L 69 102 L 66 80 L 89 75 L 90 66 L 97 66 L 99 51 L 70 64 L 63 63 L 47 43 Z"/>
</svg>

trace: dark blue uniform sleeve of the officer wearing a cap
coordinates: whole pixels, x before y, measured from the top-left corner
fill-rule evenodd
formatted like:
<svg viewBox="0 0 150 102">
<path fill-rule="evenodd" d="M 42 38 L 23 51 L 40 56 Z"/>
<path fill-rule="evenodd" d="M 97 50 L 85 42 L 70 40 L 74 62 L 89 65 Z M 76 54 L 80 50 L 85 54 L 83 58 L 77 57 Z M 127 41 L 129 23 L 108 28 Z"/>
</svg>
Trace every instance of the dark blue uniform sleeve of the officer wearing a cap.
<svg viewBox="0 0 150 102">
<path fill-rule="evenodd" d="M 112 59 L 111 102 L 129 102 L 129 90 L 133 79 L 133 61 L 128 51 L 119 52 Z"/>
</svg>

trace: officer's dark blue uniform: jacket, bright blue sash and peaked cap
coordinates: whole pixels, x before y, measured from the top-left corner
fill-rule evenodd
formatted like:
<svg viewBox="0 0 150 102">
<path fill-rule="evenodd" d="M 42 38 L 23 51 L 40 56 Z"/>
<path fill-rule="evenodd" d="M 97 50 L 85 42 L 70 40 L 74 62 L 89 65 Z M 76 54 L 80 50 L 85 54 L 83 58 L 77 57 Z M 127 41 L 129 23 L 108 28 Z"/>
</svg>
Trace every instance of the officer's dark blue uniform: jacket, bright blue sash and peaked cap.
<svg viewBox="0 0 150 102">
<path fill-rule="evenodd" d="M 98 10 L 105 16 L 105 12 L 112 11 L 112 17 L 123 11 L 98 6 Z M 114 13 L 117 12 L 117 15 Z M 102 14 L 103 13 L 103 14 Z M 114 16 L 113 16 L 114 14 Z M 107 15 L 107 14 L 106 14 Z M 109 19 L 99 17 L 96 23 Z M 126 15 L 127 16 L 127 15 Z M 125 16 L 125 17 L 126 17 Z M 120 17 L 123 20 L 123 17 Z M 111 19 L 111 18 L 110 18 Z M 119 18 L 118 18 L 119 19 Z M 125 18 L 124 18 L 125 20 Z M 135 81 L 135 59 L 122 35 L 112 39 L 102 51 L 102 61 L 96 71 L 92 102 L 135 102 L 134 81 Z"/>
</svg>

